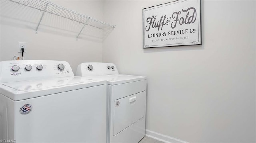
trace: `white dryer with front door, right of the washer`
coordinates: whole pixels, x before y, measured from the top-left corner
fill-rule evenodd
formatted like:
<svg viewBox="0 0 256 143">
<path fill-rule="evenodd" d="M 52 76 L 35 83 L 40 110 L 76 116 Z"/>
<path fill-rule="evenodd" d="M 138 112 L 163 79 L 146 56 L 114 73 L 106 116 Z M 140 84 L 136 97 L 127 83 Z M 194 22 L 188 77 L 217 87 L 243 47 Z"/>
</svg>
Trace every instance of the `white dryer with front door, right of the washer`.
<svg viewBox="0 0 256 143">
<path fill-rule="evenodd" d="M 108 143 L 138 143 L 145 136 L 146 77 L 119 74 L 112 63 L 81 63 L 76 76 L 107 80 Z"/>
</svg>

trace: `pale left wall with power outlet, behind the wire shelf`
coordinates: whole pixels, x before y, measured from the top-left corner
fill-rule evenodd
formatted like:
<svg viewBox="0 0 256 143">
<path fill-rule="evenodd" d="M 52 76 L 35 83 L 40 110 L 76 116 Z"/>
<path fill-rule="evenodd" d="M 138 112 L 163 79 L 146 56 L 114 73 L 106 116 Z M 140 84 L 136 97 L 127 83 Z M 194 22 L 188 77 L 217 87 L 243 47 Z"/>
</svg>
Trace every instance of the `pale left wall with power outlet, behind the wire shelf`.
<svg viewBox="0 0 256 143">
<path fill-rule="evenodd" d="M 51 0 L 51 2 L 103 20 L 102 1 Z M 35 34 L 41 14 L 42 12 L 38 13 L 36 10 L 20 7 L 9 1 L 1 2 L 0 61 L 21 56 L 18 53 L 18 41 L 22 41 L 27 42 L 28 46 L 28 53 L 24 54 L 24 59 L 68 61 L 74 73 L 77 65 L 82 62 L 102 62 L 102 39 L 98 38 L 98 35 L 95 37 L 83 32 L 76 41 L 81 29 L 81 25 L 78 27 L 76 22 L 45 14 L 38 28 L 38 34 Z M 86 30 L 87 27 L 84 31 Z M 92 29 L 88 32 L 95 33 Z"/>
</svg>

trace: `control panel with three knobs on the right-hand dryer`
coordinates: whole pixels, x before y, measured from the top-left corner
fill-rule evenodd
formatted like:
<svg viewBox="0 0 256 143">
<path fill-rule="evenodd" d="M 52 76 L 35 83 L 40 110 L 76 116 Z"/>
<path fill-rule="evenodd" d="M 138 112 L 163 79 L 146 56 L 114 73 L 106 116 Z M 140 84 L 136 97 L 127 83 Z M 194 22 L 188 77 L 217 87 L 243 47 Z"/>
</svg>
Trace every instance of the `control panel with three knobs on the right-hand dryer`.
<svg viewBox="0 0 256 143">
<path fill-rule="evenodd" d="M 81 63 L 76 70 L 76 76 L 97 76 L 119 74 L 113 63 Z"/>
</svg>

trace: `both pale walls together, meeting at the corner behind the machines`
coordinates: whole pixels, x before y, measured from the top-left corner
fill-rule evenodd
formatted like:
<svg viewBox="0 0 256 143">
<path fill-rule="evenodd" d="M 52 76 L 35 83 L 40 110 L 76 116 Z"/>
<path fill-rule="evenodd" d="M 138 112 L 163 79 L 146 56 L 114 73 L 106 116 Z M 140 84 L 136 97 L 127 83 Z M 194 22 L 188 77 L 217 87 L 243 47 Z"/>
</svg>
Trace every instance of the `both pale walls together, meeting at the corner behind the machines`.
<svg viewBox="0 0 256 143">
<path fill-rule="evenodd" d="M 42 23 L 35 34 L 40 13 L 1 4 L 0 61 L 20 56 L 18 41 L 28 43 L 25 59 L 68 61 L 74 72 L 103 54 L 120 73 L 148 77 L 148 130 L 189 142 L 256 141 L 255 1 L 202 1 L 202 45 L 153 49 L 142 49 L 142 9 L 168 1 L 51 2 L 116 28 L 103 45 L 85 34 L 76 41 L 78 27 L 46 16 L 43 22 L 60 29 Z"/>
</svg>

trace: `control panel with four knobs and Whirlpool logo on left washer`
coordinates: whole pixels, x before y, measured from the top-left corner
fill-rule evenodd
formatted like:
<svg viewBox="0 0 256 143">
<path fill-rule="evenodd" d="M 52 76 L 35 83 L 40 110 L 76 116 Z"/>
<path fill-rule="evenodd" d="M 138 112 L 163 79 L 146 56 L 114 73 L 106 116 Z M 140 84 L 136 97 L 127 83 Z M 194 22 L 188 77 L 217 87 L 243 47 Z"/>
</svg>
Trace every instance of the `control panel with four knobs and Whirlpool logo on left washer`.
<svg viewBox="0 0 256 143">
<path fill-rule="evenodd" d="M 1 61 L 0 66 L 1 83 L 74 76 L 66 61 L 14 60 Z"/>
</svg>

